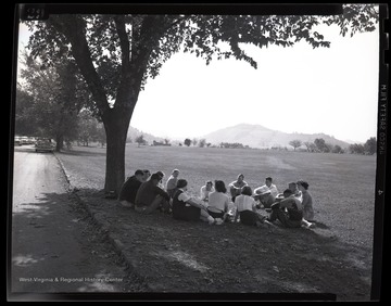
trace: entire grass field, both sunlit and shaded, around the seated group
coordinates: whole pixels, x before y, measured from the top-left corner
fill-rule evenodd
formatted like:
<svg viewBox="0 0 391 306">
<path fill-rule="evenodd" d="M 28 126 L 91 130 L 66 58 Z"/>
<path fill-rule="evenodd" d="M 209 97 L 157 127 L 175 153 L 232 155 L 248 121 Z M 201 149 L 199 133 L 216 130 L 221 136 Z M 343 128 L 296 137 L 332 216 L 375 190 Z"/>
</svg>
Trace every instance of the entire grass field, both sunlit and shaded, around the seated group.
<svg viewBox="0 0 391 306">
<path fill-rule="evenodd" d="M 178 168 L 194 195 L 205 180 L 228 184 L 241 173 L 252 188 L 272 176 L 279 191 L 290 181 L 307 180 L 314 199 L 317 227 L 312 230 L 209 227 L 163 214 L 141 217 L 99 192 L 105 149 L 55 153 L 79 196 L 122 242 L 124 256 L 136 263 L 153 291 L 326 292 L 338 301 L 369 298 L 375 156 L 135 144 L 126 153 L 127 176 L 148 168 L 163 170 L 166 180 Z"/>
</svg>

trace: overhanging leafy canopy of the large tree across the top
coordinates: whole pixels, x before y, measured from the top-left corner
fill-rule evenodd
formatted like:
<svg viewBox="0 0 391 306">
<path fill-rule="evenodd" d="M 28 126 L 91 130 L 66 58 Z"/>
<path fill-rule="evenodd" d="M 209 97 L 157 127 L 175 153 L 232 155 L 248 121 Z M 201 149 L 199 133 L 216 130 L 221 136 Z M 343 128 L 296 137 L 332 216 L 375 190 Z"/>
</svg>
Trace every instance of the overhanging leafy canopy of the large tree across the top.
<svg viewBox="0 0 391 306">
<path fill-rule="evenodd" d="M 242 49 L 247 43 L 258 48 L 291 47 L 304 40 L 313 48 L 329 47 L 330 42 L 316 31 L 317 25 L 336 24 L 341 35 L 350 30 L 353 36 L 375 30 L 377 22 L 373 4 L 346 4 L 343 15 L 331 16 L 51 15 L 46 22 L 28 25 L 35 29 L 29 41 L 31 55 L 39 55 L 42 66 L 51 65 L 55 59 L 75 58 L 97 95 L 90 106 L 102 115 L 116 101 L 126 75 L 133 74 L 134 85 L 142 89 L 148 78 L 156 77 L 162 65 L 180 50 L 204 59 L 206 64 L 212 59 L 235 58 L 256 68 L 257 63 Z M 94 77 L 83 61 L 91 62 Z"/>
</svg>

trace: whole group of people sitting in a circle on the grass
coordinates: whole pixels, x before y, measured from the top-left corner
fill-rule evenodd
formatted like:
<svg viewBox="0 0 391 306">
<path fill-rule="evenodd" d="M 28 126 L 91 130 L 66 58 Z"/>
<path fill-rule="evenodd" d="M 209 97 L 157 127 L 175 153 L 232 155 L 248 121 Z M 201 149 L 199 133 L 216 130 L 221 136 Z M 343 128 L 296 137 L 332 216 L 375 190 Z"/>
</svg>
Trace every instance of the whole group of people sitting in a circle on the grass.
<svg viewBox="0 0 391 306">
<path fill-rule="evenodd" d="M 288 228 L 315 226 L 306 181 L 291 182 L 279 193 L 270 177 L 265 179 L 265 184 L 252 190 L 240 174 L 228 184 L 229 193 L 223 180 L 214 183 L 207 180 L 198 197 L 188 193 L 188 181 L 178 177 L 179 170 L 174 169 L 163 184 L 164 173 L 151 175 L 149 170 L 136 170 L 124 182 L 118 200 L 124 207 L 140 214 L 161 211 L 172 214 L 175 219 L 201 219 L 210 225 L 240 221 L 252 226 L 274 226 L 279 220 Z"/>
</svg>

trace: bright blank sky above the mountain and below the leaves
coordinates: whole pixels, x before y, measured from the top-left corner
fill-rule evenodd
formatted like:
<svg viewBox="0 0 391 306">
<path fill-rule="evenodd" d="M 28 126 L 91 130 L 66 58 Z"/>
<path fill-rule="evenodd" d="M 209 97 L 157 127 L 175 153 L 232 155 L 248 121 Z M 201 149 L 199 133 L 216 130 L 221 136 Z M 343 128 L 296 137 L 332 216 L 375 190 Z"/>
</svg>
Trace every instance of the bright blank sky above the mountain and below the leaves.
<svg viewBox="0 0 391 306">
<path fill-rule="evenodd" d="M 206 66 L 193 54 L 177 53 L 148 80 L 130 125 L 179 140 L 241 123 L 340 140 L 376 137 L 378 30 L 353 38 L 340 36 L 337 26 L 318 31 L 330 48 L 249 46 L 257 69 L 236 60 Z"/>
</svg>

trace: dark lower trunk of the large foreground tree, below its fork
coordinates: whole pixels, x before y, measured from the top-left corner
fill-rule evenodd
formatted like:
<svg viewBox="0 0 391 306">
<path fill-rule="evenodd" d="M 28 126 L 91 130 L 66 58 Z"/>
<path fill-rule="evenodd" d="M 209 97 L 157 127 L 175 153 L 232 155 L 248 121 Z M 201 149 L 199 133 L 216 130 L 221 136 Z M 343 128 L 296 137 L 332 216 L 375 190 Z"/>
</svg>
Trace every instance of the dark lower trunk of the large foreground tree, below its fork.
<svg viewBox="0 0 391 306">
<path fill-rule="evenodd" d="M 104 191 L 119 194 L 125 180 L 126 137 L 134 107 L 114 107 L 104 114 L 106 132 L 106 170 Z"/>
</svg>

